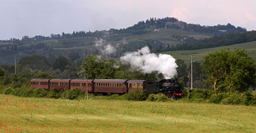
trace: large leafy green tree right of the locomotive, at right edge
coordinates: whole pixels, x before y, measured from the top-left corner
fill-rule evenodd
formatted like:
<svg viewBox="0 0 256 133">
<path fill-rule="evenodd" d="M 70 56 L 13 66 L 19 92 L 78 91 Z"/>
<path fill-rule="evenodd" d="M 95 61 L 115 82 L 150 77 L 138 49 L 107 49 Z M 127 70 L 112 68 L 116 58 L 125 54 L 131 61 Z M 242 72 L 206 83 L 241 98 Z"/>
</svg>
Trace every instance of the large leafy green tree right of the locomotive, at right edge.
<svg viewBox="0 0 256 133">
<path fill-rule="evenodd" d="M 214 92 L 244 92 L 256 84 L 255 59 L 246 50 L 229 49 L 210 53 L 204 57 L 206 83 L 213 86 Z"/>
</svg>

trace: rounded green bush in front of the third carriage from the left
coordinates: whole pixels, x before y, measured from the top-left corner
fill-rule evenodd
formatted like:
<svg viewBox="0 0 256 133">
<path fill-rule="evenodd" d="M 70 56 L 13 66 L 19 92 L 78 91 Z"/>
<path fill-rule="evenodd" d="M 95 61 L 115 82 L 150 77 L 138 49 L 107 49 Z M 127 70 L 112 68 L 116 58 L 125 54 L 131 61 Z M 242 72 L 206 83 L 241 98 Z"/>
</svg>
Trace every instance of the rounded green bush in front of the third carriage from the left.
<svg viewBox="0 0 256 133">
<path fill-rule="evenodd" d="M 66 90 L 61 94 L 61 98 L 69 99 L 69 100 L 80 100 L 85 98 L 85 91 L 80 88 L 72 88 L 70 90 Z"/>
</svg>

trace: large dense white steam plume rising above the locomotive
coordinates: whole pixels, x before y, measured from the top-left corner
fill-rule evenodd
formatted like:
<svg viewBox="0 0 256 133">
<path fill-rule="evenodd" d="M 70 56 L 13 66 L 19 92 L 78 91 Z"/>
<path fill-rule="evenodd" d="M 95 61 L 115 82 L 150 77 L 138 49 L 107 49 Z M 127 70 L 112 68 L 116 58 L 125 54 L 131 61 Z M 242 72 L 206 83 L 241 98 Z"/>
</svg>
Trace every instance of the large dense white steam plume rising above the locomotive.
<svg viewBox="0 0 256 133">
<path fill-rule="evenodd" d="M 164 78 L 173 78 L 177 74 L 177 64 L 172 56 L 150 53 L 148 46 L 136 52 L 125 53 L 120 59 L 130 62 L 133 67 L 142 69 L 143 72 L 161 72 Z"/>
</svg>

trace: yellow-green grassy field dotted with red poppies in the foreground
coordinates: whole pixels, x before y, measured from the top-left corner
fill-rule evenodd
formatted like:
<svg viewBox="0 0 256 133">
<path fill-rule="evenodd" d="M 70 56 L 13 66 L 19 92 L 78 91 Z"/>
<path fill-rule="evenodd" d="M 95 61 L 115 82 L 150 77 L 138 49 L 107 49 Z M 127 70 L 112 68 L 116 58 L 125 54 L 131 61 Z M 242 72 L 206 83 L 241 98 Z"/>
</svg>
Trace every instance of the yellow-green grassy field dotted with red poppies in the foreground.
<svg viewBox="0 0 256 133">
<path fill-rule="evenodd" d="M 256 132 L 256 107 L 0 95 L 0 132 Z"/>
</svg>

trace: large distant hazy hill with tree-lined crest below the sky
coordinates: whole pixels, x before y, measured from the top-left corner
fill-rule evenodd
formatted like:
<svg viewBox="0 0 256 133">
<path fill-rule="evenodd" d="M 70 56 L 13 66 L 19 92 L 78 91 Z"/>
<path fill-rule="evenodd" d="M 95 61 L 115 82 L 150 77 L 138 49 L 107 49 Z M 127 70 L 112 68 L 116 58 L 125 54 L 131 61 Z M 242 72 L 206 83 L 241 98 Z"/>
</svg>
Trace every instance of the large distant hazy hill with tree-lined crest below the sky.
<svg viewBox="0 0 256 133">
<path fill-rule="evenodd" d="M 94 32 L 51 34 L 51 36 L 23 36 L 21 40 L 0 40 L 0 64 L 14 64 L 14 57 L 43 55 L 47 57 L 77 53 L 84 58 L 90 53 L 105 58 L 118 58 L 125 52 L 149 46 L 151 52 L 161 52 L 173 47 L 208 39 L 227 33 L 242 33 L 246 29 L 226 26 L 200 26 L 187 24 L 176 18 L 140 21 L 126 29 Z M 108 51 L 107 51 L 108 50 Z"/>
</svg>

